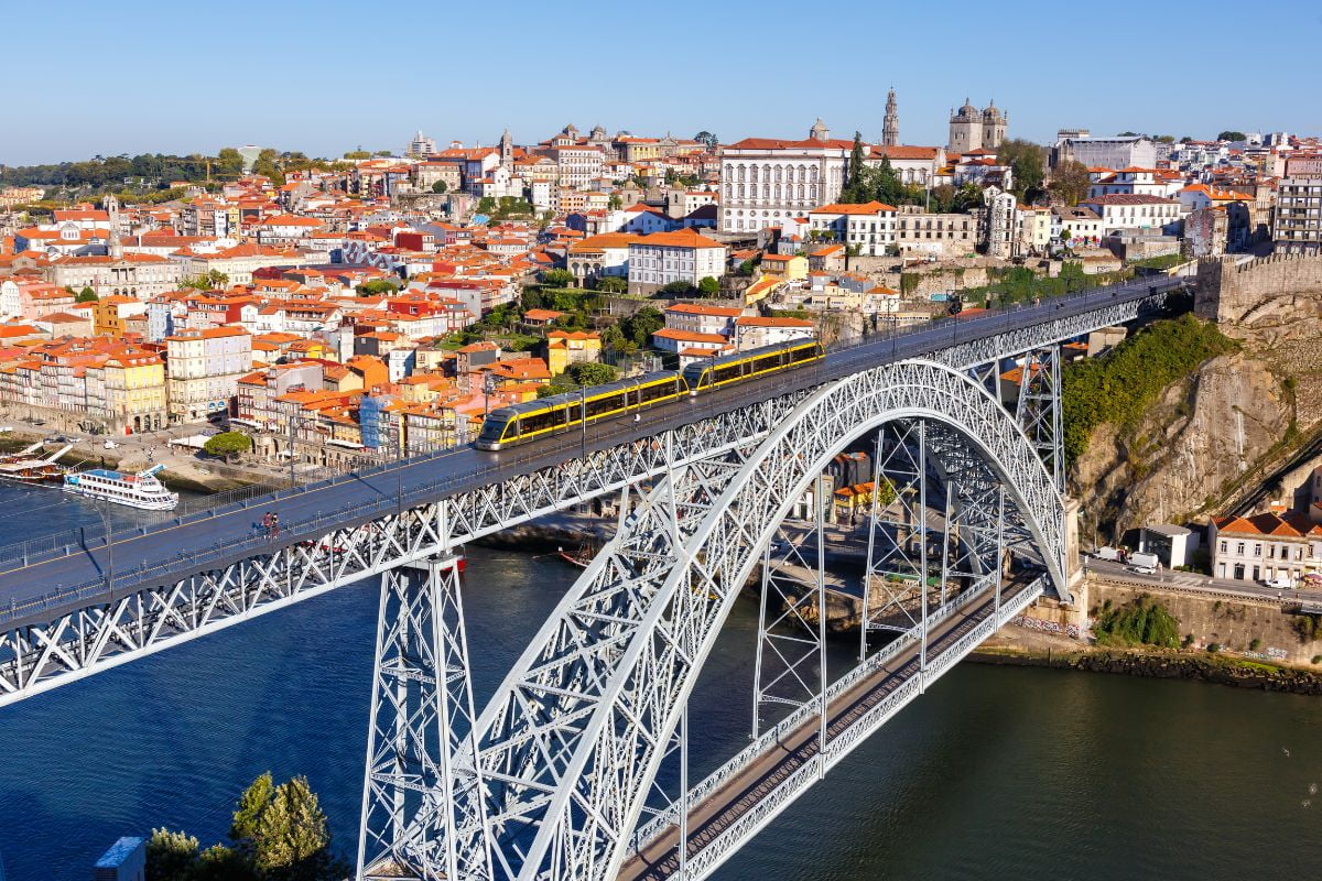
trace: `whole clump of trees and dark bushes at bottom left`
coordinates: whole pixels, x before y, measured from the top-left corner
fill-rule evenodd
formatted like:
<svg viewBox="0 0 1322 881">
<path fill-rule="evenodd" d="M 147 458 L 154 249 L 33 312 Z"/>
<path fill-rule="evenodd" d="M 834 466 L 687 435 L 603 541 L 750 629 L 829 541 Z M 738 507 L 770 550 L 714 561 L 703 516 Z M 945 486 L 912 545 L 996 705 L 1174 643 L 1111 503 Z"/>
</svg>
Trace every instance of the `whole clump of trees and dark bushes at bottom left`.
<svg viewBox="0 0 1322 881">
<path fill-rule="evenodd" d="M 330 831 L 304 777 L 276 786 L 270 771 L 243 790 L 230 844 L 202 849 L 186 832 L 153 829 L 147 881 L 336 881 L 349 866 L 330 851 Z"/>
</svg>

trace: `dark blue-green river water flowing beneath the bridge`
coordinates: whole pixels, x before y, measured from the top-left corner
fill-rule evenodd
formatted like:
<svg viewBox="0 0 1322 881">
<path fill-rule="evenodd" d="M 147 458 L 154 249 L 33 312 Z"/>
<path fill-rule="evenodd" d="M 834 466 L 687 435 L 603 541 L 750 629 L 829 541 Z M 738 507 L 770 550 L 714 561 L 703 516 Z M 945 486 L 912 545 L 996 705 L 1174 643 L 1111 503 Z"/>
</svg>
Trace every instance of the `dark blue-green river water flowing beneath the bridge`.
<svg viewBox="0 0 1322 881">
<path fill-rule="evenodd" d="M 0 543 L 79 522 L 98 522 L 85 502 L 0 489 Z M 471 549 L 480 700 L 574 576 Z M 305 774 L 350 856 L 375 610 L 360 584 L 0 709 L 7 878 L 86 878 L 118 836 L 155 826 L 219 840 L 264 770 Z M 747 742 L 755 633 L 742 602 L 690 704 L 694 775 Z M 717 877 L 1317 878 L 1310 785 L 1322 700 L 965 663 Z"/>
</svg>

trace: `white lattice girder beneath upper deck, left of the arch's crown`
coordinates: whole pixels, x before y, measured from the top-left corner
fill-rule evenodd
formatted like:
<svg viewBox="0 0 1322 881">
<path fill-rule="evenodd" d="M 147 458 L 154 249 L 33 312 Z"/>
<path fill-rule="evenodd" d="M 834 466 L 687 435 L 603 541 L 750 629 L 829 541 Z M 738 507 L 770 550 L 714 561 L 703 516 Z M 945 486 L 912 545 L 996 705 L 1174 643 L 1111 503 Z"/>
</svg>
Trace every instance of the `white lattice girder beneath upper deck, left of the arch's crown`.
<svg viewBox="0 0 1322 881">
<path fill-rule="evenodd" d="M 0 630 L 0 705 L 755 442 L 802 392 Z"/>
</svg>

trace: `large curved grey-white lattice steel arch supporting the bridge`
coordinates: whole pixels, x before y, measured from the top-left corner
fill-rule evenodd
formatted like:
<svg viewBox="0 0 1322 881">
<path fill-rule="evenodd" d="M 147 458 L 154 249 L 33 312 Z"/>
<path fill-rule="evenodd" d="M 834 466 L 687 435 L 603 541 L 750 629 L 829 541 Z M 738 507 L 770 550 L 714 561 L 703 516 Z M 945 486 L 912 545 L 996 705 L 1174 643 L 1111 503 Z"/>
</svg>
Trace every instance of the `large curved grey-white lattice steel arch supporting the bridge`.
<svg viewBox="0 0 1322 881">
<path fill-rule="evenodd" d="M 962 445 L 981 460 L 1064 592 L 1062 497 L 984 387 L 928 361 L 822 386 L 760 442 L 670 472 L 621 512 L 619 534 L 477 720 L 476 762 L 472 749 L 455 758 L 476 766 L 481 786 L 469 793 L 484 802 L 456 811 L 486 818 L 448 843 L 460 877 L 615 877 L 759 552 L 836 453 L 896 420 L 935 424 L 945 437 L 936 454 Z"/>
</svg>

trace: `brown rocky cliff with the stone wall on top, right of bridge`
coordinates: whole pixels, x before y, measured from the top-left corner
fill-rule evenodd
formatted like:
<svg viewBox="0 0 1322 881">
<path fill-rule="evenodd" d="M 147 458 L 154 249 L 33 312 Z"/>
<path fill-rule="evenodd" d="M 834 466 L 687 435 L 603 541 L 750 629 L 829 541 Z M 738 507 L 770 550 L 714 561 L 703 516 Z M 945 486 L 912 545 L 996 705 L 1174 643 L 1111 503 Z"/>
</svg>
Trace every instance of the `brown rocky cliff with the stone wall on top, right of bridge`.
<svg viewBox="0 0 1322 881">
<path fill-rule="evenodd" d="M 1166 390 L 1132 432 L 1104 425 L 1075 464 L 1081 535 L 1222 512 L 1228 494 L 1322 428 L 1322 258 L 1199 264 L 1195 314 L 1243 345 Z M 1297 432 L 1290 433 L 1290 425 Z"/>
</svg>

